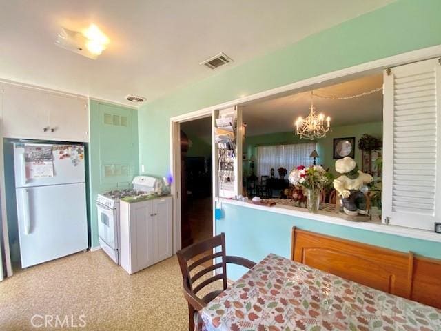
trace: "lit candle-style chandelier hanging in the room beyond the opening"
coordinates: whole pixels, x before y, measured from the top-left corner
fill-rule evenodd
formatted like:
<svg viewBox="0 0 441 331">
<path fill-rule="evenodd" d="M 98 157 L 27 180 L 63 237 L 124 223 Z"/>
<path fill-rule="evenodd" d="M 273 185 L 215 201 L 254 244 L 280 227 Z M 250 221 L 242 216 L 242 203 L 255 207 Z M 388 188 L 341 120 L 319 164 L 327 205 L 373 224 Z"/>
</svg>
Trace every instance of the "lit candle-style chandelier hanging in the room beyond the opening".
<svg viewBox="0 0 441 331">
<path fill-rule="evenodd" d="M 296 121 L 296 134 L 302 138 L 313 140 L 314 138 L 322 138 L 326 136 L 326 132 L 331 128 L 331 117 L 326 118 L 324 114 L 316 114 L 316 108 L 313 103 L 313 92 L 311 91 L 311 107 L 309 107 L 309 115 L 303 119 L 301 116 Z"/>
</svg>

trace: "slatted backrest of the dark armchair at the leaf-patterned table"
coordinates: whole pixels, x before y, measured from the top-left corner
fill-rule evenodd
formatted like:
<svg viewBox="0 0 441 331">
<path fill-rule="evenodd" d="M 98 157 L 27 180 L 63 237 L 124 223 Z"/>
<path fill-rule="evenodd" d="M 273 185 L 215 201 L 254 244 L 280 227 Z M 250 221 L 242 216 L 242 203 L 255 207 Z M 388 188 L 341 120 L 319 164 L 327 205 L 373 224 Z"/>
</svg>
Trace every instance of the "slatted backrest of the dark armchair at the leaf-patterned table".
<svg viewBox="0 0 441 331">
<path fill-rule="evenodd" d="M 218 247 L 220 247 L 220 249 Z M 213 253 L 213 248 L 218 248 L 216 250 L 216 253 Z M 203 256 L 198 257 L 201 254 L 203 254 Z M 221 233 L 216 237 L 212 237 L 199 243 L 194 243 L 193 245 L 176 252 L 176 255 L 178 256 L 182 277 L 187 283 L 189 289 L 193 292 L 193 294 L 196 295 L 203 288 L 205 288 L 205 286 L 213 283 L 214 281 L 218 281 L 219 279 L 222 279 L 223 281 L 223 290 L 227 288 L 225 234 Z M 205 267 L 203 265 L 203 263 L 212 259 L 216 259 L 216 263 L 214 265 L 210 265 L 209 267 Z M 220 274 L 216 274 L 212 277 L 203 279 L 203 281 L 198 283 L 198 285 L 194 285 L 194 283 L 198 279 L 201 279 L 201 277 L 203 277 L 205 274 L 208 274 L 209 272 L 218 269 L 222 270 Z M 218 292 L 209 292 L 202 299 L 203 301 L 210 301 L 209 299 L 213 299 L 214 297 L 216 297 L 215 294 L 217 295 Z"/>
</svg>

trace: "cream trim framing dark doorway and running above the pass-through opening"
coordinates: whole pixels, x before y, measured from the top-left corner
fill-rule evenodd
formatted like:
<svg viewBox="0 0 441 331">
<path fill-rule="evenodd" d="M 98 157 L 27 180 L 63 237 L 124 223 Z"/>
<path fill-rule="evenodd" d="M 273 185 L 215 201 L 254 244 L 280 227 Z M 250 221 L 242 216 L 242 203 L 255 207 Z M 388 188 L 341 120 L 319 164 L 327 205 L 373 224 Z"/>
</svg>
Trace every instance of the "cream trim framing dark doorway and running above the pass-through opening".
<svg viewBox="0 0 441 331">
<path fill-rule="evenodd" d="M 348 68 L 343 68 L 341 70 L 336 70 L 333 72 L 327 72 L 325 74 L 320 74 L 316 77 L 310 77 L 307 79 L 302 79 L 300 81 L 296 81 L 294 83 L 287 84 L 285 86 L 280 86 L 278 88 L 272 88 L 270 90 L 265 90 L 263 92 L 258 92 L 255 94 L 251 94 L 248 96 L 239 97 L 238 99 L 234 99 L 231 101 L 226 101 L 224 103 L 219 103 L 214 106 L 209 106 L 206 108 L 202 108 L 201 110 L 196 110 L 195 112 L 189 112 L 187 114 L 183 114 L 177 117 L 170 118 L 170 168 L 172 169 L 172 174 L 174 176 L 174 183 L 172 184 L 172 195 L 174 199 L 173 205 L 173 215 L 174 215 L 174 248 L 173 252 L 176 254 L 176 251 L 181 248 L 181 205 L 179 203 L 179 199 L 176 199 L 176 192 L 180 190 L 180 181 L 181 177 L 178 177 L 180 174 L 180 155 L 176 154 L 176 152 L 180 152 L 178 148 L 180 148 L 180 136 L 179 136 L 179 125 L 183 121 L 190 121 L 192 119 L 199 119 L 202 117 L 207 117 L 209 114 L 212 115 L 212 119 L 214 121 L 214 114 L 216 111 L 221 110 L 223 108 L 228 108 L 232 106 L 240 106 L 244 103 L 248 103 L 250 101 L 256 101 L 258 99 L 265 99 L 269 97 L 275 97 L 292 93 L 294 91 L 300 92 L 305 88 L 315 88 L 316 86 L 324 83 L 325 81 L 336 81 L 338 83 L 338 79 L 347 80 L 347 79 L 355 79 L 362 75 L 371 74 L 373 72 L 378 72 L 379 70 L 384 70 L 390 67 L 402 66 L 403 64 L 422 61 L 426 59 L 431 59 L 434 57 L 441 56 L 441 45 L 431 46 L 428 48 L 421 48 L 419 50 L 412 50 L 410 52 L 404 52 L 402 54 L 393 55 L 391 57 L 385 57 L 382 59 L 377 59 L 373 61 L 369 61 L 366 63 L 361 63 L 356 66 L 351 66 Z M 383 110 L 384 111 L 384 110 Z M 176 133 L 176 130 L 177 133 Z M 214 145 L 213 145 L 214 146 Z M 213 148 L 215 150 L 215 148 Z M 213 160 L 215 160 L 215 155 Z M 242 161 L 242 157 L 239 157 L 239 162 Z M 176 171 L 178 170 L 178 171 Z M 213 165 L 213 201 L 216 201 L 216 181 L 215 181 L 215 170 L 216 166 Z M 214 203 L 214 202 L 213 202 Z M 176 231 L 175 231 L 176 230 Z M 216 222 L 213 214 L 213 235 L 216 234 Z M 177 249 L 176 249 L 177 248 Z"/>
</svg>

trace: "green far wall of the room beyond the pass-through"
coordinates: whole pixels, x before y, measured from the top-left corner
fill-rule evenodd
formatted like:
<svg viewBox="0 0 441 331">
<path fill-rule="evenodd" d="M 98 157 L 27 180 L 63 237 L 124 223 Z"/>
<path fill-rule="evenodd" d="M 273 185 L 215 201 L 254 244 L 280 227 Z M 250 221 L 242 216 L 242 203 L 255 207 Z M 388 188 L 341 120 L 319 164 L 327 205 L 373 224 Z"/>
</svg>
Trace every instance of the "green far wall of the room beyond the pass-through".
<svg viewBox="0 0 441 331">
<path fill-rule="evenodd" d="M 334 175 L 338 175 L 335 171 L 335 159 L 333 155 L 334 148 L 334 138 L 345 138 L 345 137 L 355 137 L 356 138 L 356 152 L 355 160 L 361 169 L 361 151 L 358 149 L 358 141 L 360 137 L 367 133 L 371 134 L 373 137 L 382 137 L 382 122 L 374 123 L 362 123 L 354 124 L 351 126 L 336 126 L 332 128 L 331 132 L 326 134 L 326 137 L 321 139 L 316 139 L 317 152 L 320 158 L 317 159 L 317 164 L 321 164 L 324 168 L 330 168 L 330 172 Z M 256 157 L 257 146 L 263 145 L 277 145 L 285 143 L 307 143 L 309 140 L 299 139 L 293 132 L 276 132 L 269 134 L 260 134 L 256 136 L 249 136 L 245 139 L 244 152 L 247 153 L 247 159 Z M 254 169 L 257 168 L 257 162 L 254 163 Z M 249 171 L 249 162 L 245 162 L 244 170 Z M 274 165 L 274 169 L 277 169 L 279 165 Z M 289 171 L 290 169 L 288 169 Z M 248 174 L 248 172 L 247 172 Z"/>
</svg>

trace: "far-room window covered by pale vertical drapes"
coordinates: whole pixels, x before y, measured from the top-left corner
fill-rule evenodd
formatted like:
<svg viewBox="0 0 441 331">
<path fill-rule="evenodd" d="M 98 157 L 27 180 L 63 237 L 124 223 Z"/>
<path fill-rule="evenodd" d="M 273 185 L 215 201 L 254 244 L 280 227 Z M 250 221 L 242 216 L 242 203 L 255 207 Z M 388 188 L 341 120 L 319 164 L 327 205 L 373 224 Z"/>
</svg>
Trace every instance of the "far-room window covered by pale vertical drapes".
<svg viewBox="0 0 441 331">
<path fill-rule="evenodd" d="M 283 167 L 289 172 L 298 165 L 305 165 L 305 167 L 312 165 L 313 159 L 309 155 L 315 149 L 316 143 L 258 146 L 257 175 L 258 177 L 269 176 L 271 168 L 277 171 L 278 168 Z"/>
</svg>

